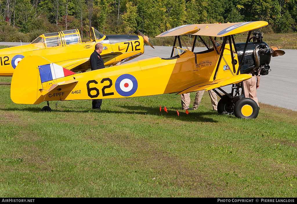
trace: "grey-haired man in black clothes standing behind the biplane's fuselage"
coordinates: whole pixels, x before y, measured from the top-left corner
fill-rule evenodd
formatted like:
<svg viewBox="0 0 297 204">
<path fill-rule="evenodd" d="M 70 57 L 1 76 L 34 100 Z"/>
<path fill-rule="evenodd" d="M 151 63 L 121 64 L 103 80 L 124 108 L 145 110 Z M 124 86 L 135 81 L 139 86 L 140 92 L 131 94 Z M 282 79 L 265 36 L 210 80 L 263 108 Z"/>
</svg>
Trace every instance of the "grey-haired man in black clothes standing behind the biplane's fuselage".
<svg viewBox="0 0 297 204">
<path fill-rule="evenodd" d="M 103 45 L 101 43 L 97 43 L 95 45 L 95 50 L 90 56 L 91 70 L 102 69 L 105 68 L 104 62 L 100 53 L 103 50 Z M 93 99 L 92 101 L 92 109 L 101 110 L 102 99 Z"/>
</svg>

